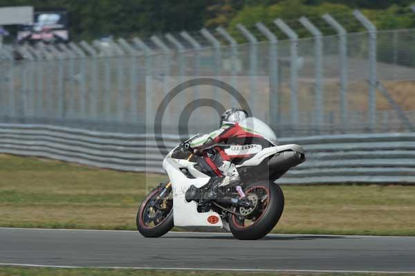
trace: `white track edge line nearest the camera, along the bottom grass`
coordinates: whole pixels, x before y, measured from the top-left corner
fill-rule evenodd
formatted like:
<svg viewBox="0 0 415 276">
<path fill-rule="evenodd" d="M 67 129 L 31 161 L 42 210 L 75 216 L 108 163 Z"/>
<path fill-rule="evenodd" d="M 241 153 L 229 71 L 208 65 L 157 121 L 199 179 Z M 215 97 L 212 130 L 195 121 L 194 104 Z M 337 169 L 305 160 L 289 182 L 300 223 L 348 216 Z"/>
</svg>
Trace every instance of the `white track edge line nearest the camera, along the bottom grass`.
<svg viewBox="0 0 415 276">
<path fill-rule="evenodd" d="M 383 271 L 383 270 L 313 270 L 313 269 L 267 269 L 267 268 L 156 268 L 156 267 L 126 267 L 126 266 L 51 266 L 43 264 L 14 264 L 0 263 L 0 266 L 24 266 L 38 268 L 95 268 L 95 269 L 136 269 L 136 270 L 214 270 L 214 271 L 252 271 L 252 272 L 299 272 L 299 273 L 389 273 L 411 274 L 415 271 Z"/>
</svg>

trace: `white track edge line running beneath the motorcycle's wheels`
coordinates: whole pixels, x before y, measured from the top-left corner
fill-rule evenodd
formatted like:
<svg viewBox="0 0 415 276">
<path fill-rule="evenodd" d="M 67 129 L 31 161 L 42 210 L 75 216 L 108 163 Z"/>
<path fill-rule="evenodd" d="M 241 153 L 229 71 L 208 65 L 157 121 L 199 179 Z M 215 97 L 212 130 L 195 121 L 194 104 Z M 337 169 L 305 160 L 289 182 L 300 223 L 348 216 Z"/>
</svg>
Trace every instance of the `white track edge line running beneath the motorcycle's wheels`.
<svg viewBox="0 0 415 276">
<path fill-rule="evenodd" d="M 90 232 L 131 232 L 138 233 L 137 230 L 104 230 L 104 229 L 68 229 L 68 228 L 20 228 L 20 227 L 0 227 L 0 230 L 47 230 L 47 231 L 90 231 Z M 185 232 L 185 231 L 169 231 L 168 234 L 228 234 L 229 232 Z M 379 237 L 379 238 L 415 238 L 415 236 L 379 236 L 379 235 L 361 235 L 361 234 L 279 234 L 270 233 L 268 235 L 275 236 L 317 236 L 317 237 Z"/>
</svg>

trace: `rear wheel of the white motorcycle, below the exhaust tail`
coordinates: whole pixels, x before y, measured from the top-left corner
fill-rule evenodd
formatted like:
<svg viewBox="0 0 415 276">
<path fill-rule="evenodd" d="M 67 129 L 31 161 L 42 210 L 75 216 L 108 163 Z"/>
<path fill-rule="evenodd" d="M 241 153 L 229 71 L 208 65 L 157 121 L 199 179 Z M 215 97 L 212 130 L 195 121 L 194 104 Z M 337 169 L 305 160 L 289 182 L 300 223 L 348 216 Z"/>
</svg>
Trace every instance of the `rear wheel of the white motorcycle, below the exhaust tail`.
<svg viewBox="0 0 415 276">
<path fill-rule="evenodd" d="M 261 239 L 279 221 L 284 210 L 284 194 L 279 185 L 269 181 L 248 185 L 245 194 L 255 206 L 234 210 L 243 216 L 229 215 L 230 232 L 237 239 Z"/>
</svg>

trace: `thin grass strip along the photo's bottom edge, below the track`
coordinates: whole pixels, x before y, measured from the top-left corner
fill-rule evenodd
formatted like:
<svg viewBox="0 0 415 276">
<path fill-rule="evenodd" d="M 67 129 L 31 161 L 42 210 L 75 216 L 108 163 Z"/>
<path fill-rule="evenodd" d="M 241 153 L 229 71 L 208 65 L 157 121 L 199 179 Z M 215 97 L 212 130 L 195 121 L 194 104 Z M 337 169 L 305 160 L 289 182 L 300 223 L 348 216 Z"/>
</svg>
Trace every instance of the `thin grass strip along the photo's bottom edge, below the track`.
<svg viewBox="0 0 415 276">
<path fill-rule="evenodd" d="M 0 276 L 22 275 L 22 276 L 237 276 L 237 275 L 344 275 L 344 276 L 370 276 L 379 275 L 376 273 L 250 273 L 250 272 L 232 272 L 232 271 L 198 271 L 198 270 L 136 270 L 136 269 L 107 269 L 107 268 L 22 268 L 17 266 L 0 266 Z M 388 275 L 396 275 L 388 273 Z M 402 276 L 414 274 L 399 274 Z"/>
</svg>

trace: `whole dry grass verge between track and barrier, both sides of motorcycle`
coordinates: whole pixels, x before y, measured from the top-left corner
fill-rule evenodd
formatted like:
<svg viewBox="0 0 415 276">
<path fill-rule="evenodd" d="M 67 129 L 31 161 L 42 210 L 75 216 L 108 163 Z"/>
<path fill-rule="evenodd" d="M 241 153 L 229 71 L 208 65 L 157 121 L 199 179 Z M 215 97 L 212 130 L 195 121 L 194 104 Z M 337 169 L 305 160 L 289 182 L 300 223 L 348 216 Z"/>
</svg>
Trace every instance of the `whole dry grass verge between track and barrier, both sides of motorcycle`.
<svg viewBox="0 0 415 276">
<path fill-rule="evenodd" d="M 0 226 L 136 230 L 146 185 L 158 174 L 0 155 Z M 415 236 L 415 186 L 284 185 L 273 232 Z"/>
</svg>

